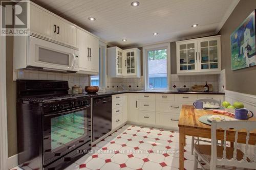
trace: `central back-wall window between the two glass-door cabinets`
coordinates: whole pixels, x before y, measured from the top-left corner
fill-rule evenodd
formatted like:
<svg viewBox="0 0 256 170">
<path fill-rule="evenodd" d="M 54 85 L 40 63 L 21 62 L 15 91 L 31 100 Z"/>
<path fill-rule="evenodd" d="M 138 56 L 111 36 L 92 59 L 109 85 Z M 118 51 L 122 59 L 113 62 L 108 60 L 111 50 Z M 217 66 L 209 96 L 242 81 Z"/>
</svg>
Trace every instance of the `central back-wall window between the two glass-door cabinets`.
<svg viewBox="0 0 256 170">
<path fill-rule="evenodd" d="M 168 90 L 170 74 L 169 44 L 143 47 L 146 90 Z"/>
</svg>

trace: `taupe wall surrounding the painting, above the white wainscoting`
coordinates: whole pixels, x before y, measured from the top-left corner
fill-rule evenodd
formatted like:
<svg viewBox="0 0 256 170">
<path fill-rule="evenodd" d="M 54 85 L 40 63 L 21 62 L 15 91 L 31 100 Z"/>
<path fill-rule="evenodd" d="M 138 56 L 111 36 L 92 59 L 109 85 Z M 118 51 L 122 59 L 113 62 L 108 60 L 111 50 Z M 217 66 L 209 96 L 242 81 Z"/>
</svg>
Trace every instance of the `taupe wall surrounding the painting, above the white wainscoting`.
<svg viewBox="0 0 256 170">
<path fill-rule="evenodd" d="M 231 71 L 230 35 L 256 9 L 255 0 L 241 0 L 233 10 L 221 34 L 222 69 L 226 69 L 226 89 L 256 95 L 256 66 Z"/>
</svg>

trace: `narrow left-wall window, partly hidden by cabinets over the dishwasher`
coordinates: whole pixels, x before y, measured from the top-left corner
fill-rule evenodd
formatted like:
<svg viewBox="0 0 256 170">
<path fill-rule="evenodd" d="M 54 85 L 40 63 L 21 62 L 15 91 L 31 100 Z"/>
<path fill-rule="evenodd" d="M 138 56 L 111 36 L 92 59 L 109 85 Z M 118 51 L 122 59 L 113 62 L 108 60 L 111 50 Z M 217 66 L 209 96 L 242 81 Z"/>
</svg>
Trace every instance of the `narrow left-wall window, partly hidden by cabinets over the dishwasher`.
<svg viewBox="0 0 256 170">
<path fill-rule="evenodd" d="M 99 45 L 99 75 L 90 76 L 90 86 L 99 86 L 105 89 L 106 86 L 106 44 L 100 41 Z"/>
</svg>

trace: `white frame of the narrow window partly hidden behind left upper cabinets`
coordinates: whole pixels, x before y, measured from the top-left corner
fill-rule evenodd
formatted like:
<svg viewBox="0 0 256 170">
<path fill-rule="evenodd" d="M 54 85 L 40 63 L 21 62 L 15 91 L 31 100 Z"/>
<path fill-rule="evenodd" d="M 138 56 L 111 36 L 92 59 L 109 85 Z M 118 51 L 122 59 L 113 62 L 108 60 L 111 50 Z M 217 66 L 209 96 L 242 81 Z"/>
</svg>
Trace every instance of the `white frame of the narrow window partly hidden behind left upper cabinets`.
<svg viewBox="0 0 256 170">
<path fill-rule="evenodd" d="M 92 76 L 99 76 L 99 90 L 106 89 L 106 43 L 99 41 L 99 75 L 91 75 L 89 77 L 89 85 L 91 86 Z"/>
</svg>

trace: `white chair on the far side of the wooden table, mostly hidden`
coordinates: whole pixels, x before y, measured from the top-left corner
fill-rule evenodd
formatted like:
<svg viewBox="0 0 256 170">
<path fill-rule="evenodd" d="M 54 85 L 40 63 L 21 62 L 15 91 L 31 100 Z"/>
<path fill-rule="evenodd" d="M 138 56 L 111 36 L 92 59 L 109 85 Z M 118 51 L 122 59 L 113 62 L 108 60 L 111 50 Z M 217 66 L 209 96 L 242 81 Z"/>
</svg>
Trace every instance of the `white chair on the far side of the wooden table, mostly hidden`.
<svg viewBox="0 0 256 170">
<path fill-rule="evenodd" d="M 209 103 L 209 104 L 221 106 L 221 100 L 215 100 L 215 99 L 211 99 L 211 98 L 201 98 L 201 99 L 198 99 L 197 101 L 201 101 L 204 104 Z M 210 140 L 203 140 L 203 139 L 200 139 L 199 137 L 195 138 L 194 136 L 192 136 L 192 138 L 191 138 L 191 154 L 192 155 L 194 154 L 194 145 L 200 144 L 200 141 L 207 142 L 207 143 L 211 142 Z M 219 144 L 222 144 L 222 143 L 219 143 Z"/>
</svg>

